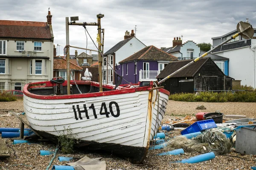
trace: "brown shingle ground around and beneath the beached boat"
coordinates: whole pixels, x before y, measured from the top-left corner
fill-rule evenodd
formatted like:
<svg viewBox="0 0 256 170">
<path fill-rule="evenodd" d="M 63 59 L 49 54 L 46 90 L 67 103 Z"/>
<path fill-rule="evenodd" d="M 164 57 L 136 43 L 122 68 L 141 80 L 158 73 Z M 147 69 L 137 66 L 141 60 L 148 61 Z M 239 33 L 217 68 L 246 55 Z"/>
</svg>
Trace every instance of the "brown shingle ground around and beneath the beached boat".
<svg viewBox="0 0 256 170">
<path fill-rule="evenodd" d="M 174 119 L 183 120 L 187 115 L 194 115 L 201 112 L 196 110 L 198 105 L 204 105 L 207 110 L 202 112 L 221 111 L 224 114 L 239 114 L 246 115 L 247 117 L 256 117 L 256 103 L 242 103 L 242 102 L 227 102 L 227 103 L 204 103 L 204 102 L 176 102 L 169 101 L 166 115 L 163 122 L 171 122 Z M 8 110 L 13 110 L 16 113 L 23 111 L 23 101 L 17 102 L 0 102 L 0 127 L 20 127 L 20 121 L 15 116 L 4 116 Z M 25 115 L 20 116 L 26 119 Z M 180 130 L 172 131 L 170 137 L 180 134 Z M 53 155 L 40 156 L 39 150 L 55 149 L 55 145 L 50 142 L 39 142 L 35 144 L 11 144 L 10 139 L 4 139 L 8 144 L 10 157 L 3 159 L 0 158 L 0 170 L 44 170 L 48 166 Z M 82 158 L 88 156 L 89 158 L 103 157 L 102 160 L 106 161 L 107 170 L 236 170 L 243 169 L 249 170 L 250 167 L 256 166 L 256 156 L 244 155 L 235 153 L 234 149 L 229 153 L 230 156 L 216 156 L 215 159 L 204 161 L 196 164 L 181 164 L 170 163 L 191 156 L 199 155 L 200 153 L 186 153 L 181 156 L 156 156 L 156 153 L 161 153 L 163 150 L 149 150 L 147 158 L 142 165 L 130 164 L 127 160 L 116 157 L 110 153 L 102 152 L 87 152 L 77 150 L 75 154 L 64 155 L 58 152 L 58 156 L 67 156 L 74 158 Z M 246 160 L 244 160 L 246 159 Z M 64 165 L 65 162 L 59 162 L 55 159 L 52 165 Z M 52 169 L 52 166 L 49 168 Z"/>
</svg>

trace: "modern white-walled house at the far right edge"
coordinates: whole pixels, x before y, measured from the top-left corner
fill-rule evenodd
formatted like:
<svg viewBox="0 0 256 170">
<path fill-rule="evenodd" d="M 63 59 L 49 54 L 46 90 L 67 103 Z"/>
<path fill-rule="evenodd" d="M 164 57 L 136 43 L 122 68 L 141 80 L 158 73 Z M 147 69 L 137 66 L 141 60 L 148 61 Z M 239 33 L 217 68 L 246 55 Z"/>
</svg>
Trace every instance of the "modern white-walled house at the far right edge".
<svg viewBox="0 0 256 170">
<path fill-rule="evenodd" d="M 233 30 L 220 37 L 213 37 L 213 47 L 237 33 Z M 241 85 L 256 88 L 256 29 L 252 39 L 244 39 L 240 35 L 230 42 L 212 51 L 212 54 L 229 58 L 228 75 L 241 81 Z"/>
</svg>

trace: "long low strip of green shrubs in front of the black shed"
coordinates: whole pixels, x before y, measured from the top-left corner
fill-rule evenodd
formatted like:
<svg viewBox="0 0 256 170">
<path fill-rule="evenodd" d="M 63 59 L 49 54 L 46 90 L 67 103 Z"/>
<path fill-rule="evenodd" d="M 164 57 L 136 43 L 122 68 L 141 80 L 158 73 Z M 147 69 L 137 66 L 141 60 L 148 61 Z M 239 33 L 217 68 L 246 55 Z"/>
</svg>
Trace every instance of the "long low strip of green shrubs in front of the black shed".
<svg viewBox="0 0 256 170">
<path fill-rule="evenodd" d="M 183 102 L 256 102 L 256 91 L 181 93 L 172 94 L 169 99 Z"/>
</svg>

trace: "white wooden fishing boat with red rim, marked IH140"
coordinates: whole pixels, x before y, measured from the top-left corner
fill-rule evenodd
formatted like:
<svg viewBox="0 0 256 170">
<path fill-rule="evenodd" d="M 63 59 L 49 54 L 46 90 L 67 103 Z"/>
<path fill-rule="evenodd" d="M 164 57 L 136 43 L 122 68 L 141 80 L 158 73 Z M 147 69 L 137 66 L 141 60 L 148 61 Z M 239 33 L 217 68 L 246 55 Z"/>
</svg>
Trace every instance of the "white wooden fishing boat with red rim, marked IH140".
<svg viewBox="0 0 256 170">
<path fill-rule="evenodd" d="M 24 111 L 30 126 L 41 136 L 58 142 L 59 132 L 67 130 L 79 139 L 78 147 L 106 150 L 140 163 L 149 142 L 157 133 L 166 111 L 169 91 L 148 86 L 125 88 L 71 81 L 26 84 Z M 62 92 L 60 94 L 60 92 Z M 66 94 L 66 95 L 64 95 Z"/>
</svg>

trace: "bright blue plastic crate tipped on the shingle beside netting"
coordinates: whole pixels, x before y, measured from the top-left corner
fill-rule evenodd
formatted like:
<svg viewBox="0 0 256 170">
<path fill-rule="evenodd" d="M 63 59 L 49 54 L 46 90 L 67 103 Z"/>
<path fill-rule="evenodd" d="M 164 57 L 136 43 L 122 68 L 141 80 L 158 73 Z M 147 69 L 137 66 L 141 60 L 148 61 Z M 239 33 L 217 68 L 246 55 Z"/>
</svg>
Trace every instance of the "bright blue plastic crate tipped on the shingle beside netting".
<svg viewBox="0 0 256 170">
<path fill-rule="evenodd" d="M 201 132 L 202 130 L 211 129 L 217 127 L 213 119 L 208 120 L 201 120 L 193 123 L 186 129 L 182 130 L 180 133 L 182 135 L 189 134 L 189 133 L 195 133 L 195 132 Z"/>
</svg>

